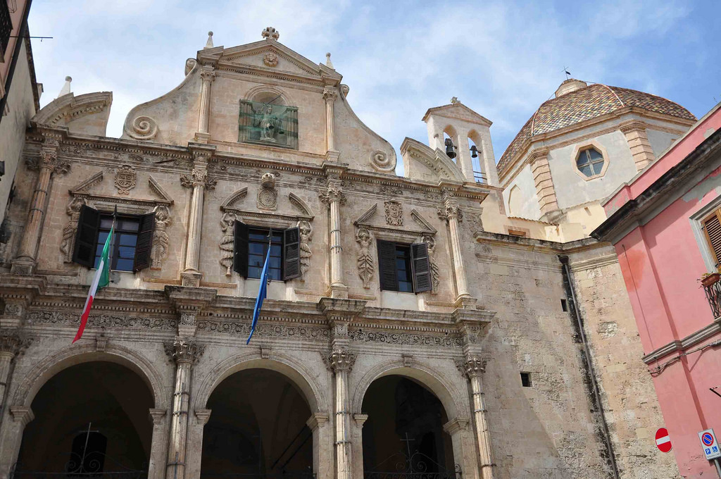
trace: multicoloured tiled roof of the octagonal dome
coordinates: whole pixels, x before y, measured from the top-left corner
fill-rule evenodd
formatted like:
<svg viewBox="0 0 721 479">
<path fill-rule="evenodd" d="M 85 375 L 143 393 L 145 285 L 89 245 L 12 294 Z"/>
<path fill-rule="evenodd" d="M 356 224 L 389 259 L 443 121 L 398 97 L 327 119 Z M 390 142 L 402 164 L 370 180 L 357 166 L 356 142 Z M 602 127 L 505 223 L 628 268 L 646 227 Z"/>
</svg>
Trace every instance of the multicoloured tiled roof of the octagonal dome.
<svg viewBox="0 0 721 479">
<path fill-rule="evenodd" d="M 569 79 L 561 84 L 558 92 L 561 92 L 564 84 L 568 82 L 583 84 L 578 80 Z M 637 90 L 596 83 L 588 87 L 573 89 L 567 93 L 558 92 L 557 97 L 544 102 L 536 110 L 536 113 L 528 119 L 516 138 L 503 152 L 498 162 L 498 172 L 501 175 L 510 168 L 511 161 L 521 151 L 526 140 L 533 136 L 606 115 L 606 113 L 612 113 L 623 107 L 638 107 L 655 113 L 684 118 L 684 120 L 696 120 L 689 110 L 678 103 Z"/>
</svg>

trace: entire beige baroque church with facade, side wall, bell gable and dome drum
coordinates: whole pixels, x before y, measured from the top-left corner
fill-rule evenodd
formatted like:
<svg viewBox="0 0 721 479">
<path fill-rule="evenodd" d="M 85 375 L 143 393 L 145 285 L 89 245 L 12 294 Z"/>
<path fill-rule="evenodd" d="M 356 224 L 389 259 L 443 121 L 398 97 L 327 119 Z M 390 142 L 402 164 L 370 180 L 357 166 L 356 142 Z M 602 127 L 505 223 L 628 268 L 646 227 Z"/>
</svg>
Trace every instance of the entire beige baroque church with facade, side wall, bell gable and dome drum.
<svg viewBox="0 0 721 479">
<path fill-rule="evenodd" d="M 679 477 L 616 255 L 588 237 L 607 193 L 564 206 L 553 139 L 612 191 L 636 171 L 614 163 L 663 147 L 628 128 L 692 115 L 647 95 L 524 126 L 497 168 L 454 99 L 399 177 L 329 58 L 278 38 L 209 38 L 120 139 L 110 92 L 33 118 L 0 258 L 0 478 Z M 71 344 L 113 214 L 112 283 Z"/>
</svg>

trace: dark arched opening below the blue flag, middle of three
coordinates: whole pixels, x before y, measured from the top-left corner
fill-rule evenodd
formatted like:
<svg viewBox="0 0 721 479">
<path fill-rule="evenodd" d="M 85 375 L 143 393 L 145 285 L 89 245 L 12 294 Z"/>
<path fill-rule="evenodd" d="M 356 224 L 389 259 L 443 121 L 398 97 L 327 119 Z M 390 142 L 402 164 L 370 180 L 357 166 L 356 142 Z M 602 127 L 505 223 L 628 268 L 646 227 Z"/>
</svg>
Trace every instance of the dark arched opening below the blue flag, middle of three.
<svg viewBox="0 0 721 479">
<path fill-rule="evenodd" d="M 218 384 L 207 404 L 201 478 L 312 478 L 311 410 L 286 376 L 244 369 Z"/>
</svg>

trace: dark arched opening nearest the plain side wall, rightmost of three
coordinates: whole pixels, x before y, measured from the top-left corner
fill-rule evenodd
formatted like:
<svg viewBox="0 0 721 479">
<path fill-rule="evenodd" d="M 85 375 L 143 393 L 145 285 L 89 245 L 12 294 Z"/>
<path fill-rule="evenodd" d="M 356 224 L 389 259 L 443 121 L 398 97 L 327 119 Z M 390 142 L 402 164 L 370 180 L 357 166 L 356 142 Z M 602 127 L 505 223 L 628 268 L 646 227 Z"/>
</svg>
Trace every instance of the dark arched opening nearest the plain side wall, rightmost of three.
<svg viewBox="0 0 721 479">
<path fill-rule="evenodd" d="M 363 397 L 363 475 L 366 479 L 460 479 L 446 410 L 414 379 L 389 375 Z"/>
</svg>

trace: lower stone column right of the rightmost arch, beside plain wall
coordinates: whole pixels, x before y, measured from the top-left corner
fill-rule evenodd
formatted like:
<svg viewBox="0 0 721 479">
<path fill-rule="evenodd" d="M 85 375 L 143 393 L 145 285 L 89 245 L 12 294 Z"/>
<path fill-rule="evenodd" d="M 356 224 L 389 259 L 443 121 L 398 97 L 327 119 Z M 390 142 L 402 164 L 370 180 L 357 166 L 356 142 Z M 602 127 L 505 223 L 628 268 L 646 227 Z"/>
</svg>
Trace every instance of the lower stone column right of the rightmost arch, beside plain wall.
<svg viewBox="0 0 721 479">
<path fill-rule="evenodd" d="M 463 364 L 464 372 L 471 382 L 471 403 L 473 406 L 473 423 L 476 429 L 478 444 L 479 467 L 482 479 L 493 479 L 493 460 L 491 454 L 491 436 L 488 430 L 486 404 L 483 397 L 482 376 L 486 370 L 485 361 L 478 356 L 466 356 Z"/>
</svg>

